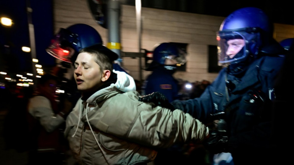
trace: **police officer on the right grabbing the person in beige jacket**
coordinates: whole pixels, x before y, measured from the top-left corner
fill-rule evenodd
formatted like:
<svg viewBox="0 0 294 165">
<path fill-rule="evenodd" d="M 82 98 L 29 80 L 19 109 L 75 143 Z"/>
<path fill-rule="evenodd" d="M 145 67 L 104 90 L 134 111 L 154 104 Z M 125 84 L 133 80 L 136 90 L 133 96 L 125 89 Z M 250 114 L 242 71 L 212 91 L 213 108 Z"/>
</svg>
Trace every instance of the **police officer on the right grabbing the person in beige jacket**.
<svg viewBox="0 0 294 165">
<path fill-rule="evenodd" d="M 279 150 L 270 138 L 271 105 L 284 60 L 284 49 L 273 38 L 273 24 L 261 9 L 244 7 L 223 21 L 217 41 L 218 62 L 224 67 L 216 79 L 199 98 L 171 105 L 204 123 L 222 121 L 205 143 L 210 153 L 229 152 L 235 165 L 272 163 Z M 157 103 L 164 100 L 161 97 L 154 93 L 140 100 Z"/>
</svg>

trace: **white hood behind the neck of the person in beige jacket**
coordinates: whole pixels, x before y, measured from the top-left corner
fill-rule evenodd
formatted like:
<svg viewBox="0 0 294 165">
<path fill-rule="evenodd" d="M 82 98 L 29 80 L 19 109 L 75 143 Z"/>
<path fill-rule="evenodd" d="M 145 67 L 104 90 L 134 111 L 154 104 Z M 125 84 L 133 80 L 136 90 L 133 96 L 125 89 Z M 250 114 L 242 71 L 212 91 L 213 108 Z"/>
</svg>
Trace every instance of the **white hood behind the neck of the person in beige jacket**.
<svg viewBox="0 0 294 165">
<path fill-rule="evenodd" d="M 122 92 L 136 90 L 135 80 L 132 76 L 128 75 L 126 72 L 120 72 L 115 70 L 113 70 L 112 72 L 113 74 L 117 75 L 116 82 L 110 84 L 110 86 L 106 88 L 98 90 L 92 96 L 90 96 L 86 102 L 93 104 L 98 97 L 116 90 L 120 90 Z"/>
</svg>

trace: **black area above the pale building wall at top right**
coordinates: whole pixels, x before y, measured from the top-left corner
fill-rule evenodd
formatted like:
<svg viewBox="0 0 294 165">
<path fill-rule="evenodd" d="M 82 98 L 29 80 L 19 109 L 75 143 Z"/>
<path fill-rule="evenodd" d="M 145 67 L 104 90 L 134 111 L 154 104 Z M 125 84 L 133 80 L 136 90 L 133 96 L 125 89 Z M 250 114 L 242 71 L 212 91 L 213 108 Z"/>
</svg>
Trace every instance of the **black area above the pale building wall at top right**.
<svg viewBox="0 0 294 165">
<path fill-rule="evenodd" d="M 135 6 L 135 0 L 124 0 Z M 274 23 L 294 25 L 292 1 L 265 0 L 141 0 L 142 7 L 227 17 L 243 7 L 262 9 Z"/>
</svg>

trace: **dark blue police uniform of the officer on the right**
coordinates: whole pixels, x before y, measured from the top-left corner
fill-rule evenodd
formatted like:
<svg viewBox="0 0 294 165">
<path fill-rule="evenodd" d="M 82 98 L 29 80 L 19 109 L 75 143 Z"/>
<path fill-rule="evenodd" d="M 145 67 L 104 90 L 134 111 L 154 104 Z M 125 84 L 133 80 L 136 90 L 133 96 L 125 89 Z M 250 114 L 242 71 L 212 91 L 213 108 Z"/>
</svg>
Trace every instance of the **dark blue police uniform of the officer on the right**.
<svg viewBox="0 0 294 165">
<path fill-rule="evenodd" d="M 256 158 L 270 161 L 275 153 L 270 139 L 271 104 L 283 60 L 262 56 L 240 73 L 223 68 L 200 98 L 171 103 L 202 122 L 208 122 L 210 114 L 225 112 L 229 139 L 224 152 L 230 152 L 236 164 L 265 163 Z"/>
</svg>

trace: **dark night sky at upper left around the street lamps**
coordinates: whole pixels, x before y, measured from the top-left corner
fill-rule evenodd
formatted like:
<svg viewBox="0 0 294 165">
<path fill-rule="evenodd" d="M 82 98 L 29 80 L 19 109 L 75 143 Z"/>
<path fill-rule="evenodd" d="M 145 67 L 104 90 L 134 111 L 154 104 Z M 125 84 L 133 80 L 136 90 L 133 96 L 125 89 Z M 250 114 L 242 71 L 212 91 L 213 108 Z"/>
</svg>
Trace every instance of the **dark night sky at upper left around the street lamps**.
<svg viewBox="0 0 294 165">
<path fill-rule="evenodd" d="M 30 2 L 32 14 L 27 14 L 27 2 Z M 51 0 L 9 0 L 0 2 L 0 17 L 13 20 L 11 27 L 0 26 L 0 71 L 31 72 L 31 54 L 23 52 L 22 46 L 30 47 L 28 18 L 32 18 L 35 31 L 36 57 L 43 67 L 55 65 L 46 47 L 54 35 Z M 30 17 L 31 16 L 31 17 Z M 9 45 L 9 47 L 7 47 Z"/>
</svg>

